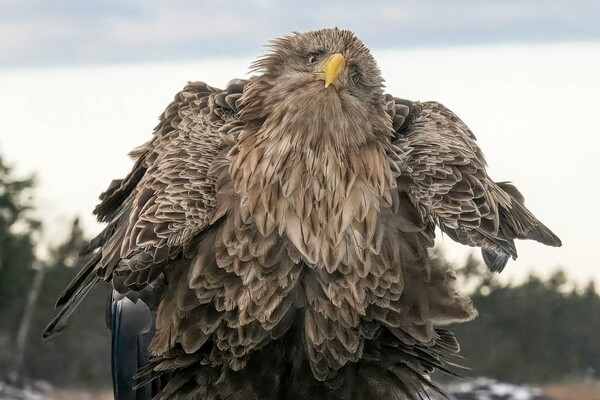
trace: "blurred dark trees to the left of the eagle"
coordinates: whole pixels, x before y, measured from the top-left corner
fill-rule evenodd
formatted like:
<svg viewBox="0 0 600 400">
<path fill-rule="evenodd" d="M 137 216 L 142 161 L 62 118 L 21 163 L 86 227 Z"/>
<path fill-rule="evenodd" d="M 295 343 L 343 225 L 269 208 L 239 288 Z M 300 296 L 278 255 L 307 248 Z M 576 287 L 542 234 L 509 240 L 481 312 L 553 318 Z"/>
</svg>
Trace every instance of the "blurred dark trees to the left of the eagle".
<svg viewBox="0 0 600 400">
<path fill-rule="evenodd" d="M 64 334 L 41 339 L 56 299 L 73 277 L 85 238 L 75 220 L 69 237 L 37 259 L 41 224 L 32 216 L 33 186 L 31 178 L 15 178 L 0 155 L 0 378 L 14 373 L 28 293 L 43 269 L 25 340 L 23 375 L 59 386 L 106 387 L 110 385 L 110 337 L 104 323 L 108 290 L 88 296 Z"/>
</svg>

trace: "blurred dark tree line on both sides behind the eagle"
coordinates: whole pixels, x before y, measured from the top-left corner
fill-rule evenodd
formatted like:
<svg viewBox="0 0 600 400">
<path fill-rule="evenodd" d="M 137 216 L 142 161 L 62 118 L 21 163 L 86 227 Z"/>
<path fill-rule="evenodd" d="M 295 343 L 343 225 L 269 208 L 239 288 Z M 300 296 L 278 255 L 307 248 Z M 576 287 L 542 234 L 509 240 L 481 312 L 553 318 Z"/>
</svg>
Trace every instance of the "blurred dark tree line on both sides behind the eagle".
<svg viewBox="0 0 600 400">
<path fill-rule="evenodd" d="M 47 342 L 40 334 L 54 302 L 75 273 L 85 243 L 74 221 L 64 243 L 37 259 L 40 223 L 32 217 L 33 179 L 17 179 L 0 156 L 0 377 L 14 367 L 27 294 L 45 274 L 27 335 L 23 372 L 57 386 L 109 386 L 110 337 L 105 328 L 108 289 L 93 292 L 66 331 Z M 77 269 L 77 268 L 75 268 Z M 462 346 L 463 375 L 509 382 L 582 379 L 600 371 L 600 297 L 593 284 L 576 289 L 562 272 L 549 280 L 501 284 L 475 258 L 458 269 L 460 287 L 473 291 L 479 317 L 453 327 Z"/>
</svg>

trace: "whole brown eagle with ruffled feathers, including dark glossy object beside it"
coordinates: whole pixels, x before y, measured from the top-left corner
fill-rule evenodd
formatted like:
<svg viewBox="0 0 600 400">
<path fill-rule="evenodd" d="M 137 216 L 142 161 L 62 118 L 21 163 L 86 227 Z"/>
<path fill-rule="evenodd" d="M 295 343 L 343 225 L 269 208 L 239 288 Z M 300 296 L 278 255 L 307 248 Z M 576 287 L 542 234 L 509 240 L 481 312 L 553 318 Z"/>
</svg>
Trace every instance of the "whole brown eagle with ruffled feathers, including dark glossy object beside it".
<svg viewBox="0 0 600 400">
<path fill-rule="evenodd" d="M 188 83 L 131 152 L 44 337 L 105 281 L 117 399 L 442 392 L 429 374 L 454 373 L 447 325 L 476 311 L 436 228 L 491 271 L 515 239 L 559 238 L 452 111 L 385 93 L 352 32 L 276 39 L 252 70 Z"/>
</svg>

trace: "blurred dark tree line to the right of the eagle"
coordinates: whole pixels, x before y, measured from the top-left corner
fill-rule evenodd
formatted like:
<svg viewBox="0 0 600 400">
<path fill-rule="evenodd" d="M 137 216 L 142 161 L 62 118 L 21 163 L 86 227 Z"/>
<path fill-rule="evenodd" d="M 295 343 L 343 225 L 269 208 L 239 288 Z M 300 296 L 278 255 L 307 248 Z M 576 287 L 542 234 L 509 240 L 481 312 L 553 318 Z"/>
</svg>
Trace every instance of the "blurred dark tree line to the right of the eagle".
<svg viewBox="0 0 600 400">
<path fill-rule="evenodd" d="M 577 288 L 562 270 L 506 285 L 470 256 L 459 281 L 474 287 L 479 316 L 453 327 L 466 376 L 514 383 L 598 379 L 600 296 L 590 282 Z"/>
</svg>

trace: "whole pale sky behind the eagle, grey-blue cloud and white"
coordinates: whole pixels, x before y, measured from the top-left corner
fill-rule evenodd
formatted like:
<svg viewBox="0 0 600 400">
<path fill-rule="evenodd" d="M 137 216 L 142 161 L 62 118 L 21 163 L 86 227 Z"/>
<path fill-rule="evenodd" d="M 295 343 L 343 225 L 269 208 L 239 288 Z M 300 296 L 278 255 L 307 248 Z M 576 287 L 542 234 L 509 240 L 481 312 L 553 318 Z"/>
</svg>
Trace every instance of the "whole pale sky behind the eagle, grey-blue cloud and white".
<svg viewBox="0 0 600 400">
<path fill-rule="evenodd" d="M 600 283 L 597 2 L 215 4 L 0 0 L 0 154 L 36 174 L 46 240 L 74 215 L 90 234 L 100 228 L 98 194 L 128 172 L 127 153 L 188 80 L 223 86 L 247 76 L 269 39 L 337 25 L 373 49 L 390 93 L 454 110 L 491 176 L 513 181 L 563 239 L 519 243 L 507 279 L 566 267 Z"/>
</svg>

